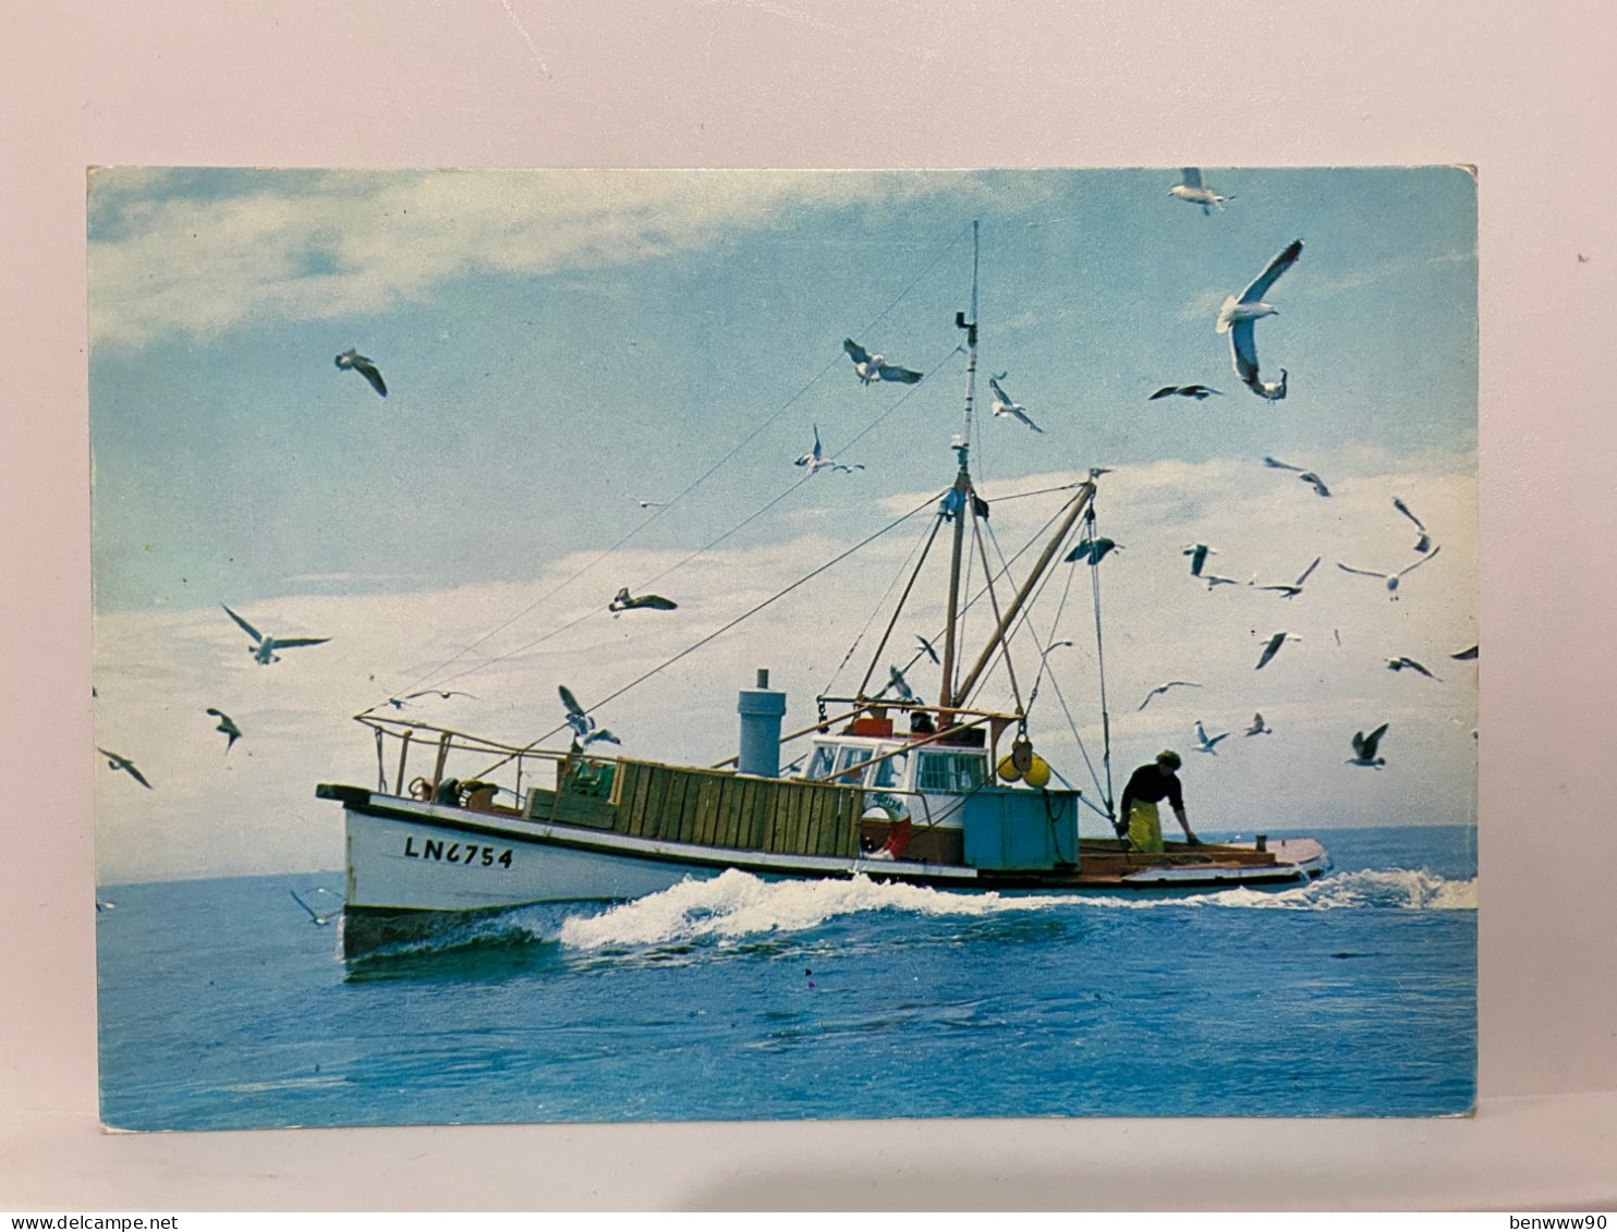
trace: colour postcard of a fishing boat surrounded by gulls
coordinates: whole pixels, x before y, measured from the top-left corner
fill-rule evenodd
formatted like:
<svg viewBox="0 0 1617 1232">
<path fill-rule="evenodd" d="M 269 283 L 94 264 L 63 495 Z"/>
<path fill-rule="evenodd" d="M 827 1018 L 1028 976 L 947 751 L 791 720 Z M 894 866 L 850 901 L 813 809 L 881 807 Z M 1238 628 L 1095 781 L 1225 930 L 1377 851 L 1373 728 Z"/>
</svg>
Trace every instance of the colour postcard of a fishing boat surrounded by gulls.
<svg viewBox="0 0 1617 1232">
<path fill-rule="evenodd" d="M 1468 1112 L 1468 168 L 99 168 L 102 1119 Z"/>
</svg>

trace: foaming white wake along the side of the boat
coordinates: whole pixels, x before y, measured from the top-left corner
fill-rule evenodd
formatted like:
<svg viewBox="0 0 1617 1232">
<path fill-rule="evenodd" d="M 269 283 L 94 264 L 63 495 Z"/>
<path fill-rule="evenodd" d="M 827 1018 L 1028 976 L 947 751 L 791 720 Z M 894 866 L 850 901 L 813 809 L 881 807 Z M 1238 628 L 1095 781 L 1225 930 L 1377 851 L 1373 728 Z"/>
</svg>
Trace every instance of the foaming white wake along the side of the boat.
<svg viewBox="0 0 1617 1232">
<path fill-rule="evenodd" d="M 681 884 L 597 915 L 568 917 L 558 936 L 564 947 L 598 951 L 613 946 L 658 946 L 674 941 L 734 939 L 760 933 L 797 933 L 857 912 L 990 917 L 1049 909 L 1163 910 L 1221 907 L 1323 912 L 1339 909 L 1475 910 L 1476 880 L 1450 881 L 1428 870 L 1362 870 L 1337 873 L 1284 891 L 1224 889 L 1176 897 L 1096 894 L 954 894 L 876 883 L 762 881 L 728 870 L 711 881 Z"/>
</svg>

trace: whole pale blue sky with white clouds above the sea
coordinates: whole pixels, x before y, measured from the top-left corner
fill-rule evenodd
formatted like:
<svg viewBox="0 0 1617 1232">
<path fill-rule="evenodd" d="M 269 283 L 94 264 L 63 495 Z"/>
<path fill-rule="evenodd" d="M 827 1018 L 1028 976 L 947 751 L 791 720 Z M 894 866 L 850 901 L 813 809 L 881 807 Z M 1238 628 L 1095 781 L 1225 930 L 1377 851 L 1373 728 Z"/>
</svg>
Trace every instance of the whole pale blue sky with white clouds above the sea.
<svg viewBox="0 0 1617 1232">
<path fill-rule="evenodd" d="M 437 686 L 471 697 L 396 713 L 535 739 L 561 718 L 558 684 L 606 697 L 920 509 L 598 715 L 627 755 L 711 763 L 734 752 L 736 690 L 770 666 L 787 726 L 807 723 L 817 692 L 857 684 L 867 660 L 839 665 L 862 631 L 872 650 L 954 474 L 972 220 L 980 373 L 1006 373 L 1045 428 L 975 424 L 998 546 L 1019 550 L 1061 500 L 1004 498 L 1111 469 L 1096 508 L 1122 545 L 1098 567 L 1116 786 L 1171 745 L 1203 831 L 1471 821 L 1476 665 L 1449 655 L 1476 640 L 1475 181 L 1206 179 L 1231 197 L 1211 215 L 1167 194 L 1177 168 L 97 171 L 95 742 L 152 783 L 102 763 L 99 880 L 340 867 L 341 815 L 314 784 L 375 783 L 356 711 Z M 1213 323 L 1297 238 L 1268 294 L 1279 315 L 1256 325 L 1289 398 L 1264 403 Z M 847 336 L 925 380 L 860 386 Z M 335 367 L 349 346 L 386 399 Z M 1148 401 L 1190 382 L 1224 393 Z M 863 469 L 794 467 L 815 427 Z M 1441 545 L 1397 598 L 1337 567 L 1418 558 L 1394 496 Z M 1192 542 L 1239 585 L 1190 577 Z M 1295 600 L 1245 585 L 1316 556 Z M 1069 572 L 1035 605 L 1019 673 L 1025 690 L 1038 647 L 1075 642 L 1051 653 L 1032 728 L 1096 799 L 1079 749 L 1100 755 L 1091 579 Z M 888 660 L 941 626 L 928 579 Z M 681 606 L 613 618 L 623 585 Z M 222 605 L 331 640 L 259 666 Z M 973 610 L 969 639 L 982 622 Z M 1281 631 L 1300 640 L 1255 673 Z M 1391 673 L 1399 655 L 1441 679 Z M 1137 708 L 1169 679 L 1200 687 Z M 1011 702 L 1003 674 L 982 700 Z M 244 732 L 228 753 L 207 707 Z M 1260 710 L 1273 734 L 1243 737 Z M 1216 757 L 1192 752 L 1198 719 L 1234 732 Z M 1350 736 L 1379 723 L 1387 765 L 1347 766 Z"/>
</svg>

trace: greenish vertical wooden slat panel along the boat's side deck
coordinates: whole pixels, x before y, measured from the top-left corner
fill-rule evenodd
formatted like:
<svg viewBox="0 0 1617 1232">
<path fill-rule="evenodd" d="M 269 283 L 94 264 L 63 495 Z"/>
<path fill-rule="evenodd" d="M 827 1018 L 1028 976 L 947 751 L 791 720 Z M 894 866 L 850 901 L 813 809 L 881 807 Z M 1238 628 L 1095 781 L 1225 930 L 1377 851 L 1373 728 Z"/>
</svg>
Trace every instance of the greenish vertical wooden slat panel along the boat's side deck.
<svg viewBox="0 0 1617 1232">
<path fill-rule="evenodd" d="M 859 855 L 862 787 L 618 762 L 613 829 L 783 855 Z"/>
</svg>

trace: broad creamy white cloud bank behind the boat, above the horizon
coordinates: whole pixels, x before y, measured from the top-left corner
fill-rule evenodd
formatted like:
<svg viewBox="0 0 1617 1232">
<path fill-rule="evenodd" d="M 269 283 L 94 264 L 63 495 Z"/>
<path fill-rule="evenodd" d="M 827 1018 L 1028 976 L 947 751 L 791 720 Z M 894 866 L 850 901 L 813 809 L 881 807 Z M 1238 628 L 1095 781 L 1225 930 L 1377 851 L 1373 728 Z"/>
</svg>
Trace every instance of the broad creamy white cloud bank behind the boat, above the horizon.
<svg viewBox="0 0 1617 1232">
<path fill-rule="evenodd" d="M 1174 745 L 1190 763 L 1192 820 L 1205 829 L 1470 820 L 1476 666 L 1447 656 L 1476 640 L 1475 458 L 1397 459 L 1350 446 L 1290 461 L 1315 466 L 1332 496 L 1321 500 L 1295 475 L 1255 459 L 1164 461 L 1101 480 L 1100 532 L 1124 545 L 1100 569 L 1116 786 L 1132 765 Z M 1033 475 L 1017 488 L 1067 479 Z M 1336 567 L 1347 561 L 1391 571 L 1415 558 L 1413 527 L 1392 508 L 1394 495 L 1410 503 L 1442 546 L 1407 579 L 1397 601 L 1374 579 Z M 910 508 L 920 498 L 893 503 Z M 1059 500 L 993 506 L 994 535 L 1007 555 L 1046 522 Z M 886 624 L 876 601 L 910 558 L 920 527 L 922 519 L 907 522 L 673 663 L 603 707 L 602 721 L 624 737 L 629 755 L 711 763 L 734 752 L 736 689 L 749 687 L 754 669 L 768 666 L 789 695 L 787 724 L 812 723 L 813 695 L 833 677 L 838 692 L 857 686 Z M 1192 540 L 1218 548 L 1210 569 L 1240 585 L 1208 592 L 1190 577 L 1180 551 Z M 385 705 L 390 694 L 435 684 L 475 698 L 422 698 L 403 713 L 492 739 L 532 740 L 561 718 L 558 684 L 593 705 L 847 546 L 810 534 L 784 545 L 707 553 L 657 584 L 679 601 L 676 613 L 618 619 L 590 614 L 602 593 L 610 593 L 602 590 L 606 566 L 547 600 L 595 553 L 505 584 L 267 600 L 243 614 L 277 634 L 333 639 L 289 650 L 268 668 L 252 663 L 246 637 L 217 608 L 102 614 L 95 622 L 95 742 L 131 757 L 154 791 L 99 768 L 100 880 L 338 867 L 340 810 L 317 802 L 314 786 L 377 778 L 370 739 L 349 715 Z M 1316 555 L 1323 561 L 1295 600 L 1245 585 L 1253 576 L 1290 580 Z M 619 551 L 610 574 L 655 577 L 682 556 Z M 1020 558 L 1014 580 L 1025 576 L 1030 559 Z M 941 627 L 944 567 L 944 553 L 935 548 L 912 610 L 876 661 L 878 676 L 886 663 L 909 660 L 915 634 L 931 637 Z M 969 590 L 977 590 L 980 577 L 973 564 Z M 1066 566 L 1058 566 L 1022 643 L 1019 684 L 1025 697 L 1036 671 L 1035 645 L 1074 639 L 1077 645 L 1051 661 L 1083 740 L 1098 757 L 1088 571 L 1072 577 L 1058 626 L 1066 585 Z M 999 590 L 1001 603 L 1009 592 L 1009 585 Z M 517 613 L 526 614 L 513 621 Z M 986 637 L 990 619 L 985 603 L 969 613 L 969 656 Z M 498 632 L 488 635 L 492 629 Z M 1302 640 L 1255 671 L 1261 643 L 1282 629 Z M 838 674 L 855 637 L 860 648 Z M 451 663 L 461 648 L 469 650 Z M 1410 655 L 1444 679 L 1394 674 L 1386 660 L 1395 655 Z M 912 684 L 935 698 L 930 671 L 930 665 L 917 669 Z M 1137 710 L 1166 679 L 1201 687 L 1174 690 Z M 990 673 L 980 700 L 1011 702 L 1003 671 Z M 246 732 L 228 755 L 204 715 L 210 705 Z M 1239 732 L 1256 710 L 1274 734 L 1247 739 Z M 1198 718 L 1210 731 L 1237 732 L 1218 758 L 1190 752 Z M 1033 719 L 1041 752 L 1093 797 L 1049 684 Z M 1392 724 L 1383 747 L 1387 768 L 1344 765 L 1352 732 L 1383 721 Z"/>
</svg>

